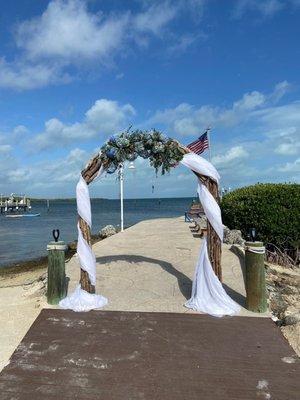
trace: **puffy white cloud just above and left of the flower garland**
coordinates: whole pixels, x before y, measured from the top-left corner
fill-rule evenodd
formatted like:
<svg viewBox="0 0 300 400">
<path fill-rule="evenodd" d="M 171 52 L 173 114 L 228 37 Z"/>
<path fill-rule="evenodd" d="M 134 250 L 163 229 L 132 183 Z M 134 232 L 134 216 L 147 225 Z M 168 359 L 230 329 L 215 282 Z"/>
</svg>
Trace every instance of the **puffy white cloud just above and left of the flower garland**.
<svg viewBox="0 0 300 400">
<path fill-rule="evenodd" d="M 82 142 L 126 129 L 135 109 L 130 104 L 120 105 L 117 101 L 100 99 L 86 112 L 82 122 L 64 124 L 57 118 L 45 123 L 45 130 L 31 140 L 32 151 L 63 147 L 73 141 Z"/>
</svg>

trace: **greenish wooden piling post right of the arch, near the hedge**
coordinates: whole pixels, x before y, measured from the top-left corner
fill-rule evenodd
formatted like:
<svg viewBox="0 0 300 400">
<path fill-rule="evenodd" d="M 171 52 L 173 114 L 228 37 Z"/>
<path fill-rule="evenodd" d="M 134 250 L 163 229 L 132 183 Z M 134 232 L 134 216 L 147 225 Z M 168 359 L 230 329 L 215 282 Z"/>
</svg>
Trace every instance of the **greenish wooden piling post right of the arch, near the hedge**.
<svg viewBox="0 0 300 400">
<path fill-rule="evenodd" d="M 267 292 L 262 242 L 246 242 L 246 308 L 253 312 L 267 311 Z"/>
</svg>

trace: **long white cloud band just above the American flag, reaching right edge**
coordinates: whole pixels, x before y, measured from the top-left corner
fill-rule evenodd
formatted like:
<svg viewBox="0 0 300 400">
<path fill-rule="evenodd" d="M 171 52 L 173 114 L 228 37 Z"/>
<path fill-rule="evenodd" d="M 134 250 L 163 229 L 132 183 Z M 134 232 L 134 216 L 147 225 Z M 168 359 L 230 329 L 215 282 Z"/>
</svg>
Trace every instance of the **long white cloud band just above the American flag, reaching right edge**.
<svg viewBox="0 0 300 400">
<path fill-rule="evenodd" d="M 284 81 L 275 85 L 270 94 L 258 91 L 245 93 L 228 108 L 211 105 L 197 108 L 188 103 L 181 103 L 174 108 L 157 111 L 148 120 L 148 124 L 167 125 L 170 132 L 181 136 L 194 136 L 207 126 L 224 129 L 237 127 L 246 122 L 259 122 L 261 127 L 268 129 L 269 132 L 275 126 L 274 121 L 278 123 L 277 127 L 287 128 L 290 123 L 293 123 L 300 129 L 300 103 L 275 106 L 276 102 L 290 90 L 290 87 L 291 85 Z"/>
</svg>

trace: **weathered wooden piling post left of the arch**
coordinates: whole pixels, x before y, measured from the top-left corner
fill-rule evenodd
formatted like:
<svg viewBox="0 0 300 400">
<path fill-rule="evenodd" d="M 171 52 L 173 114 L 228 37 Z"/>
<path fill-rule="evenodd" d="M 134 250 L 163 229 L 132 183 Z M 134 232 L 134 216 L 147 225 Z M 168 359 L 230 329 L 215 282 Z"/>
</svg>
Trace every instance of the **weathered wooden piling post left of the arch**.
<svg viewBox="0 0 300 400">
<path fill-rule="evenodd" d="M 66 297 L 66 274 L 65 274 L 65 242 L 50 242 L 48 250 L 48 282 L 47 301 L 49 304 L 58 304 Z"/>
</svg>

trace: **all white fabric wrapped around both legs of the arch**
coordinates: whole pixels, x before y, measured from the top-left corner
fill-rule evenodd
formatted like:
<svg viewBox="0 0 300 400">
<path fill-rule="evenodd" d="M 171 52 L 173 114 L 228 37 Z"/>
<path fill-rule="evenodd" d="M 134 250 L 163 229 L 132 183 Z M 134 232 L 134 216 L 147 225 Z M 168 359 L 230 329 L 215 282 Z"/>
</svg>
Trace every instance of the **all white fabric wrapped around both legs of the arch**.
<svg viewBox="0 0 300 400">
<path fill-rule="evenodd" d="M 209 177 L 215 182 L 219 182 L 220 176 L 215 167 L 194 153 L 187 153 L 183 156 L 181 164 L 185 165 L 197 175 Z M 97 177 L 104 172 L 101 166 Z M 207 187 L 201 182 L 198 184 L 198 195 L 203 206 L 208 221 L 217 233 L 220 240 L 223 240 L 223 224 L 221 211 L 217 201 L 211 195 Z M 82 176 L 76 187 L 76 199 L 78 215 L 92 226 L 91 203 L 88 185 Z M 92 285 L 96 284 L 96 259 L 93 250 L 86 239 L 83 237 L 78 223 L 78 245 L 77 256 L 81 269 L 86 271 Z M 101 308 L 107 304 L 108 300 L 97 294 L 91 294 L 83 290 L 80 285 L 75 291 L 61 300 L 59 305 L 65 309 L 74 311 L 89 311 Z M 200 250 L 199 259 L 195 269 L 192 286 L 191 299 L 186 303 L 186 307 L 213 316 L 234 315 L 240 307 L 227 295 L 221 282 L 213 271 L 207 252 L 207 240 L 204 239 Z"/>
</svg>

